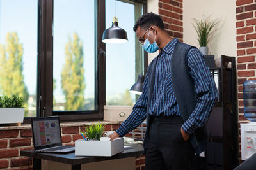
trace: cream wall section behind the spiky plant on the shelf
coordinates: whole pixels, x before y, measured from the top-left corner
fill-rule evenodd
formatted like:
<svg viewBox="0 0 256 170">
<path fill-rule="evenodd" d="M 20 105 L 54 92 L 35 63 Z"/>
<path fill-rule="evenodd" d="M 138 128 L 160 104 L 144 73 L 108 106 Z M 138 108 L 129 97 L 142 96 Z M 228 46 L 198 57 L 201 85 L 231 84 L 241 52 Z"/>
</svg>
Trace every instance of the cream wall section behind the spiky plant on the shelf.
<svg viewBox="0 0 256 170">
<path fill-rule="evenodd" d="M 215 55 L 236 56 L 236 1 L 235 0 L 184 0 L 183 29 L 184 43 L 199 47 L 197 34 L 193 27 L 193 18 L 200 19 L 202 15 L 211 15 L 221 23 L 209 43 L 209 52 Z"/>
</svg>

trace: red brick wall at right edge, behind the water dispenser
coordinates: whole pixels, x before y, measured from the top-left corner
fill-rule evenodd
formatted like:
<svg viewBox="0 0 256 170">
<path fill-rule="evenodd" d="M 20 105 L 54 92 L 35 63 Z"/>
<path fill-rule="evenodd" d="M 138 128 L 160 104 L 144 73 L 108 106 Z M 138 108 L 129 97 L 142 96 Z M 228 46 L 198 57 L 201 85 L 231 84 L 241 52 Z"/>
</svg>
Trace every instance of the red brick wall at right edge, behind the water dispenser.
<svg viewBox="0 0 256 170">
<path fill-rule="evenodd" d="M 237 97 L 239 123 L 248 122 L 243 110 L 243 82 L 255 79 L 256 55 L 256 0 L 236 1 L 237 30 Z M 240 125 L 239 125 L 240 132 Z M 239 133 L 239 153 L 241 158 L 241 143 Z"/>
</svg>

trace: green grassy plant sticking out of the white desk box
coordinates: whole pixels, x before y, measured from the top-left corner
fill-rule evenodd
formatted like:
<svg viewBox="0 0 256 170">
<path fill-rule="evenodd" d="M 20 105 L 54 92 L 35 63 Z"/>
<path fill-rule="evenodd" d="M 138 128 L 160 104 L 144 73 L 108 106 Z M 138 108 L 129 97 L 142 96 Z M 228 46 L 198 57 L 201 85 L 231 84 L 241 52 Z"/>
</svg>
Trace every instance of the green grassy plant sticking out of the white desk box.
<svg viewBox="0 0 256 170">
<path fill-rule="evenodd" d="M 93 124 L 85 127 L 85 131 L 82 132 L 89 140 L 100 141 L 100 138 L 105 130 L 105 125 Z"/>
</svg>

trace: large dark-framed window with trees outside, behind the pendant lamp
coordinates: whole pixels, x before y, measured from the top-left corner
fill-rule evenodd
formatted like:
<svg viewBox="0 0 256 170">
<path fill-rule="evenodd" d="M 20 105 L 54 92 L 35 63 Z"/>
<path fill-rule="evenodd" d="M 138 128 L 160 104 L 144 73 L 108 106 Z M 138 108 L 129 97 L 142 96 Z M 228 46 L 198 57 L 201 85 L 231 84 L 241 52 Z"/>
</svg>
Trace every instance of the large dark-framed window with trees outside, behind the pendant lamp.
<svg viewBox="0 0 256 170">
<path fill-rule="evenodd" d="M 134 104 L 136 96 L 127 92 L 125 99 L 125 92 L 147 57 L 132 27 L 146 2 L 116 0 L 129 43 L 106 45 L 101 39 L 115 15 L 113 0 L 0 0 L 0 95 L 23 96 L 26 117 L 63 121 L 103 118 L 106 98 Z"/>
</svg>

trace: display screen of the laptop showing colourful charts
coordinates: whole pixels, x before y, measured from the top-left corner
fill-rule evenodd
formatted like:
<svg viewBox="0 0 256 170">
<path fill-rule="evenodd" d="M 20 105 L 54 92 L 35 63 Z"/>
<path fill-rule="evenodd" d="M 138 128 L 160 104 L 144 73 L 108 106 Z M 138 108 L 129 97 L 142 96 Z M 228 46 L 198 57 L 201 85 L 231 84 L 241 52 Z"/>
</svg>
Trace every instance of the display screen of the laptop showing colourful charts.
<svg viewBox="0 0 256 170">
<path fill-rule="evenodd" d="M 60 143 L 60 127 L 57 120 L 39 120 L 33 122 L 35 146 Z"/>
</svg>

